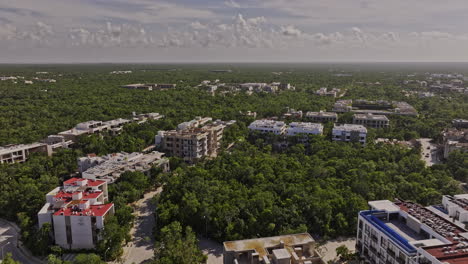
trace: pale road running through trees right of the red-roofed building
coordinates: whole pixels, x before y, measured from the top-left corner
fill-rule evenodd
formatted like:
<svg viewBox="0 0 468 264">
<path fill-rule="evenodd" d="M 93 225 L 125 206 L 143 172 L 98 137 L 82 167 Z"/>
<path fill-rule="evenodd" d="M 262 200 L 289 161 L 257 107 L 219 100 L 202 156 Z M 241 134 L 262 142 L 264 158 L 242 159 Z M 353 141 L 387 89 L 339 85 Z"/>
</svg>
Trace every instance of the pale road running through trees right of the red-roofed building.
<svg viewBox="0 0 468 264">
<path fill-rule="evenodd" d="M 156 191 L 149 192 L 145 196 L 138 200 L 135 204 L 136 216 L 135 224 L 130 230 L 132 241 L 126 245 L 123 250 L 121 261 L 114 263 L 124 264 L 141 264 L 149 262 L 154 256 L 154 237 L 153 227 L 155 224 L 154 210 L 155 206 L 151 203 L 152 198 L 160 193 L 162 188 L 158 188 Z"/>
</svg>

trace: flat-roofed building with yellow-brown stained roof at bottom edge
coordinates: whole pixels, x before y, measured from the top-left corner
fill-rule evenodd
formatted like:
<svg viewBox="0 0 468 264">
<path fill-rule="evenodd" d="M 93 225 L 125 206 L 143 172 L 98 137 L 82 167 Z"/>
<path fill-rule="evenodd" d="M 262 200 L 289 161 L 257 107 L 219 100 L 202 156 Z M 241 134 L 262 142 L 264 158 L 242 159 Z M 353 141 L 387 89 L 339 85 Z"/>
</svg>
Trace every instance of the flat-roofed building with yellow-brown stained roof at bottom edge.
<svg viewBox="0 0 468 264">
<path fill-rule="evenodd" d="M 223 243 L 224 264 L 325 264 L 308 233 Z"/>
</svg>

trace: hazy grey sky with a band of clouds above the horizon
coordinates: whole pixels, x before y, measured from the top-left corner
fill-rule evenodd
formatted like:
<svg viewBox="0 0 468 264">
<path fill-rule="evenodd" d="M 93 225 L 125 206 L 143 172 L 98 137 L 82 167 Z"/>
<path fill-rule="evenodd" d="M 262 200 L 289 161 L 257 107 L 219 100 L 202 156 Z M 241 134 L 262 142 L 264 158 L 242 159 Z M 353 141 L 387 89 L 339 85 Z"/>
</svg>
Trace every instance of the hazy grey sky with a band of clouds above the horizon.
<svg viewBox="0 0 468 264">
<path fill-rule="evenodd" d="M 466 0 L 1 0 L 0 63 L 468 61 Z"/>
</svg>

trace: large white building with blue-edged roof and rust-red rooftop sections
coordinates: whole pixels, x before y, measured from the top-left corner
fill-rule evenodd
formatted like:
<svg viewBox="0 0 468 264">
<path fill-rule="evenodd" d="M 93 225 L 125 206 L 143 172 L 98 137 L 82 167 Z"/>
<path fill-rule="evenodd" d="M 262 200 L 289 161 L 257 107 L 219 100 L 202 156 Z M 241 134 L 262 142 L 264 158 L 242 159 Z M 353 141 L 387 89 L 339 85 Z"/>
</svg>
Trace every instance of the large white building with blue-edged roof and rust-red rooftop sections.
<svg viewBox="0 0 468 264">
<path fill-rule="evenodd" d="M 364 263 L 468 263 L 468 232 L 444 209 L 400 200 L 373 201 L 369 207 L 359 213 L 357 228 L 356 249 Z"/>
</svg>

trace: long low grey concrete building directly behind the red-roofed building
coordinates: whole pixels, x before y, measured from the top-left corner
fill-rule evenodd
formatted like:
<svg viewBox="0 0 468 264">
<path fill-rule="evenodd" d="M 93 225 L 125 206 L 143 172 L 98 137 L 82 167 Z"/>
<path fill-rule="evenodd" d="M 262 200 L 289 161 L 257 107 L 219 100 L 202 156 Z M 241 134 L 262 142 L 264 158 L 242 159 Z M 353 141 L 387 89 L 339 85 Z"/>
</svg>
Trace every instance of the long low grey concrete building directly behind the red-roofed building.
<svg viewBox="0 0 468 264">
<path fill-rule="evenodd" d="M 103 157 L 88 155 L 78 159 L 78 170 L 85 179 L 104 180 L 108 183 L 116 181 L 126 171 L 148 173 L 152 167 L 169 171 L 169 160 L 163 158 L 164 153 L 114 153 Z"/>
</svg>

